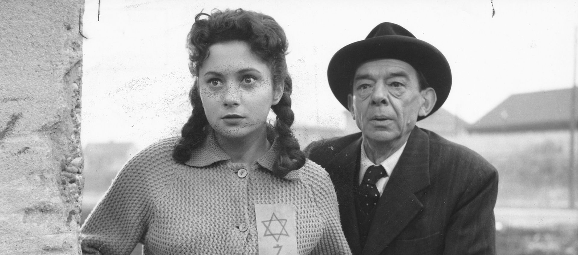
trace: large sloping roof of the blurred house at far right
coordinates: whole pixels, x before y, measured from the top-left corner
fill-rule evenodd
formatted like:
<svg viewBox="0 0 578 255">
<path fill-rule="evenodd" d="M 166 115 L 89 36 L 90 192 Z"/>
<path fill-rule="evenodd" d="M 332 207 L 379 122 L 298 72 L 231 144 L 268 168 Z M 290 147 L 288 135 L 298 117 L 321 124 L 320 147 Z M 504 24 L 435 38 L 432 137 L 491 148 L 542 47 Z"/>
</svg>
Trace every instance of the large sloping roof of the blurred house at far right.
<svg viewBox="0 0 578 255">
<path fill-rule="evenodd" d="M 471 125 L 469 131 L 512 132 L 566 129 L 570 125 L 571 101 L 571 88 L 511 95 Z"/>
</svg>

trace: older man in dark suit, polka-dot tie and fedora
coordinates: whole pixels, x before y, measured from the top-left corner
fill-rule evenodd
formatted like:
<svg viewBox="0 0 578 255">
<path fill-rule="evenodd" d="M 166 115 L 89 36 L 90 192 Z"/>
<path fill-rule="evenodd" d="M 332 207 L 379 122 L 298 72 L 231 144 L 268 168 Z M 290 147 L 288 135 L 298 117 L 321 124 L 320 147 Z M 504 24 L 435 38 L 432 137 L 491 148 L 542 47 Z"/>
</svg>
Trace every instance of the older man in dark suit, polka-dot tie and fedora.
<svg viewBox="0 0 578 255">
<path fill-rule="evenodd" d="M 498 172 L 474 151 L 416 127 L 451 87 L 442 53 L 381 23 L 329 63 L 329 86 L 361 132 L 313 142 L 335 184 L 354 254 L 495 254 Z"/>
</svg>

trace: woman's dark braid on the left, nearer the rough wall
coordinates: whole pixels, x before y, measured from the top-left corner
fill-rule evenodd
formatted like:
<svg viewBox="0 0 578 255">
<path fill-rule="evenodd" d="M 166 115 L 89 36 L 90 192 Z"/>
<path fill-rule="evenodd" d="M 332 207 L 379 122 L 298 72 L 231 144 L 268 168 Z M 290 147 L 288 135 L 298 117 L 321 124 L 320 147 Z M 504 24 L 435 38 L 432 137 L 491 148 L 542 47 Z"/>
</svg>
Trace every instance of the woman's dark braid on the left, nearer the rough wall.
<svg viewBox="0 0 578 255">
<path fill-rule="evenodd" d="M 187 123 L 184 124 L 181 130 L 181 138 L 176 142 L 173 150 L 173 158 L 181 164 L 190 160 L 192 150 L 205 142 L 207 136 L 205 127 L 209 124 L 197 84 L 191 88 L 189 97 L 191 99 L 192 114 L 188 118 Z"/>
</svg>

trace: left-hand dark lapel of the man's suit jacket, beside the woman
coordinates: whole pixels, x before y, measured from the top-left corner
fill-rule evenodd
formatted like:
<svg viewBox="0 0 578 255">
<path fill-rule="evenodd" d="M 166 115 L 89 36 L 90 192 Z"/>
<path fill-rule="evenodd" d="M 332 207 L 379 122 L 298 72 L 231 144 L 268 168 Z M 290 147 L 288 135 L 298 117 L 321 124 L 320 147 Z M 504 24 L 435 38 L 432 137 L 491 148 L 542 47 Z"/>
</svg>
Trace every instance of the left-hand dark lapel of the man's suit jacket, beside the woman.
<svg viewBox="0 0 578 255">
<path fill-rule="evenodd" d="M 360 153 L 361 136 L 342 151 L 339 151 L 327 164 L 327 169 L 333 169 L 331 179 L 338 193 L 341 224 L 353 254 L 361 253 L 354 201 L 354 194 L 357 189 L 357 180 L 354 179 L 355 171 L 359 169 Z"/>
</svg>

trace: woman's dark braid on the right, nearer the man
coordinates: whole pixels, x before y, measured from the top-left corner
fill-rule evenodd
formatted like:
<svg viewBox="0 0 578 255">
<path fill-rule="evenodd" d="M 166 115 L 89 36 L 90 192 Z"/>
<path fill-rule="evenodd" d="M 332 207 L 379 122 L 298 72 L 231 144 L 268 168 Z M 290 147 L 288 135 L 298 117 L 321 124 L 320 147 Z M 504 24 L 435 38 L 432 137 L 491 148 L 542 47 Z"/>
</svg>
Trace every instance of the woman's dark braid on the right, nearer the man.
<svg viewBox="0 0 578 255">
<path fill-rule="evenodd" d="M 291 110 L 291 77 L 285 79 L 285 90 L 277 105 L 272 106 L 277 114 L 275 132 L 279 143 L 279 154 L 273 165 L 273 173 L 286 176 L 287 173 L 302 168 L 305 165 L 305 153 L 299 149 L 299 142 L 291 131 L 294 114 Z"/>
</svg>

